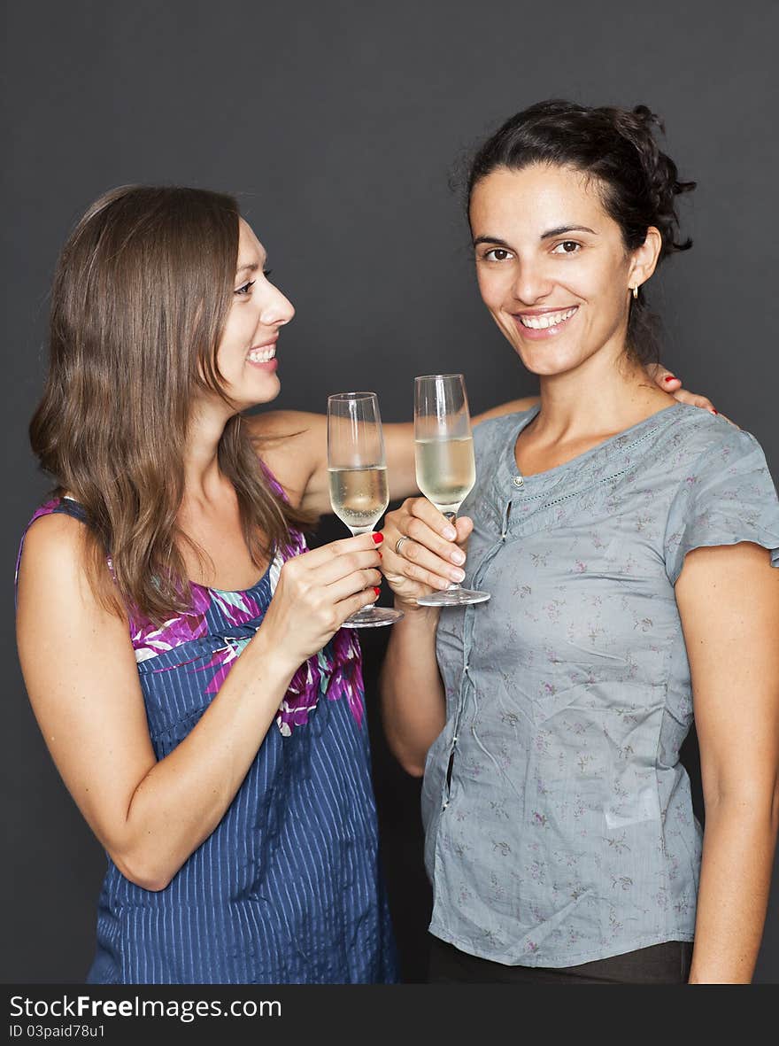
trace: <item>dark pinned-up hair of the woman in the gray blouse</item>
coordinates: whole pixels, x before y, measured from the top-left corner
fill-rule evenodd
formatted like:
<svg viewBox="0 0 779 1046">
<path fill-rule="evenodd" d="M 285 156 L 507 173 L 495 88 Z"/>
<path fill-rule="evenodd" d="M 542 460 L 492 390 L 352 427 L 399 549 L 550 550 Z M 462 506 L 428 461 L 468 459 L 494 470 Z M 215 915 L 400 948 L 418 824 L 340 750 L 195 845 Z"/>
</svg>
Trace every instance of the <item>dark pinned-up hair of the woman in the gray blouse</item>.
<svg viewBox="0 0 779 1046">
<path fill-rule="evenodd" d="M 497 167 L 573 167 L 598 185 L 625 250 L 640 247 L 654 225 L 663 238 L 659 260 L 686 251 L 692 241 L 680 238 L 675 198 L 694 189 L 695 182 L 681 182 L 675 163 L 658 146 L 655 135 L 664 130 L 646 106 L 629 111 L 559 98 L 539 101 L 507 119 L 478 150 L 467 174 L 466 207 L 474 187 Z M 646 308 L 643 288 L 636 300 L 631 298 L 627 348 L 639 363 L 658 359 L 657 318 Z"/>
</svg>

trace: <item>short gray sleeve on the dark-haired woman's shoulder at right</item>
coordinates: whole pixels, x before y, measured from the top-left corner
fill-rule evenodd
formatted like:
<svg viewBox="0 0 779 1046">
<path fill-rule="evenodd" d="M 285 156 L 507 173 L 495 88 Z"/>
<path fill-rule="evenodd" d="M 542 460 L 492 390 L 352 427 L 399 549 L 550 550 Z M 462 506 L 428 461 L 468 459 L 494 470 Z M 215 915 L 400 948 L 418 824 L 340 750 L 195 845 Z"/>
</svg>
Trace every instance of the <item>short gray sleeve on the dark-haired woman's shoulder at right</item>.
<svg viewBox="0 0 779 1046">
<path fill-rule="evenodd" d="M 675 585 L 694 548 L 749 541 L 771 550 L 779 567 L 779 499 L 762 448 L 728 428 L 681 479 L 668 513 L 665 567 Z"/>
</svg>

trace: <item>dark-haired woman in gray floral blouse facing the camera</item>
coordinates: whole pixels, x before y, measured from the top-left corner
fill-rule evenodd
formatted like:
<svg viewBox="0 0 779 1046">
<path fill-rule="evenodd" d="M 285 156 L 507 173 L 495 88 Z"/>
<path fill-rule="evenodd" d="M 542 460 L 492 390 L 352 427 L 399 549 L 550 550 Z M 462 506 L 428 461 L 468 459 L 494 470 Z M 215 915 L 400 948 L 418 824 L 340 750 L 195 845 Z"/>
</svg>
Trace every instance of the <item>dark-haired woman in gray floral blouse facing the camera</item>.
<svg viewBox="0 0 779 1046">
<path fill-rule="evenodd" d="M 476 428 L 456 532 L 423 498 L 385 528 L 406 617 L 384 719 L 425 773 L 434 981 L 746 982 L 757 957 L 779 504 L 753 436 L 647 378 L 646 285 L 690 246 L 675 198 L 694 187 L 657 127 L 541 103 L 471 168 L 481 296 L 541 403 Z M 489 602 L 416 605 L 466 541 Z M 705 832 L 679 761 L 693 710 Z"/>
</svg>

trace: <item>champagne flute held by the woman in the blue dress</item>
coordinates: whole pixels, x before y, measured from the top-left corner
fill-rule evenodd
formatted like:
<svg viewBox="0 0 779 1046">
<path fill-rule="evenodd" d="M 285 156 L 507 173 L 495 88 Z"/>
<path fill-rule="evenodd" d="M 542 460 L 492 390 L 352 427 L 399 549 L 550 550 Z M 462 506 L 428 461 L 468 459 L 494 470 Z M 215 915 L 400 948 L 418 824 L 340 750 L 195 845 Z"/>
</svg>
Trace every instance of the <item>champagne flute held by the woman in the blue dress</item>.
<svg viewBox="0 0 779 1046">
<path fill-rule="evenodd" d="M 382 418 L 375 392 L 338 392 L 327 397 L 327 472 L 333 511 L 352 535 L 370 533 L 389 504 Z M 399 621 L 403 613 L 363 607 L 345 629 Z"/>
</svg>

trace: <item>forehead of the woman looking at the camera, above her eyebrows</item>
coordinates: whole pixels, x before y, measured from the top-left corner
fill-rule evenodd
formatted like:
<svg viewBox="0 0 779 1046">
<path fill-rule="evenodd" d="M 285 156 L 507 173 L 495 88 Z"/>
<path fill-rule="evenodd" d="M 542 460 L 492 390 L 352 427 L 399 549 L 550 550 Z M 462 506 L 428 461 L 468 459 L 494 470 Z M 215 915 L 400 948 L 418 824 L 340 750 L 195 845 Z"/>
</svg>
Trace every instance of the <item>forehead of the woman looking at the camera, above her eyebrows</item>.
<svg viewBox="0 0 779 1046">
<path fill-rule="evenodd" d="M 600 228 L 612 222 L 597 184 L 580 170 L 533 164 L 521 170 L 498 167 L 478 182 L 471 196 L 474 235 L 508 229 L 541 234 L 565 225 Z"/>
</svg>

